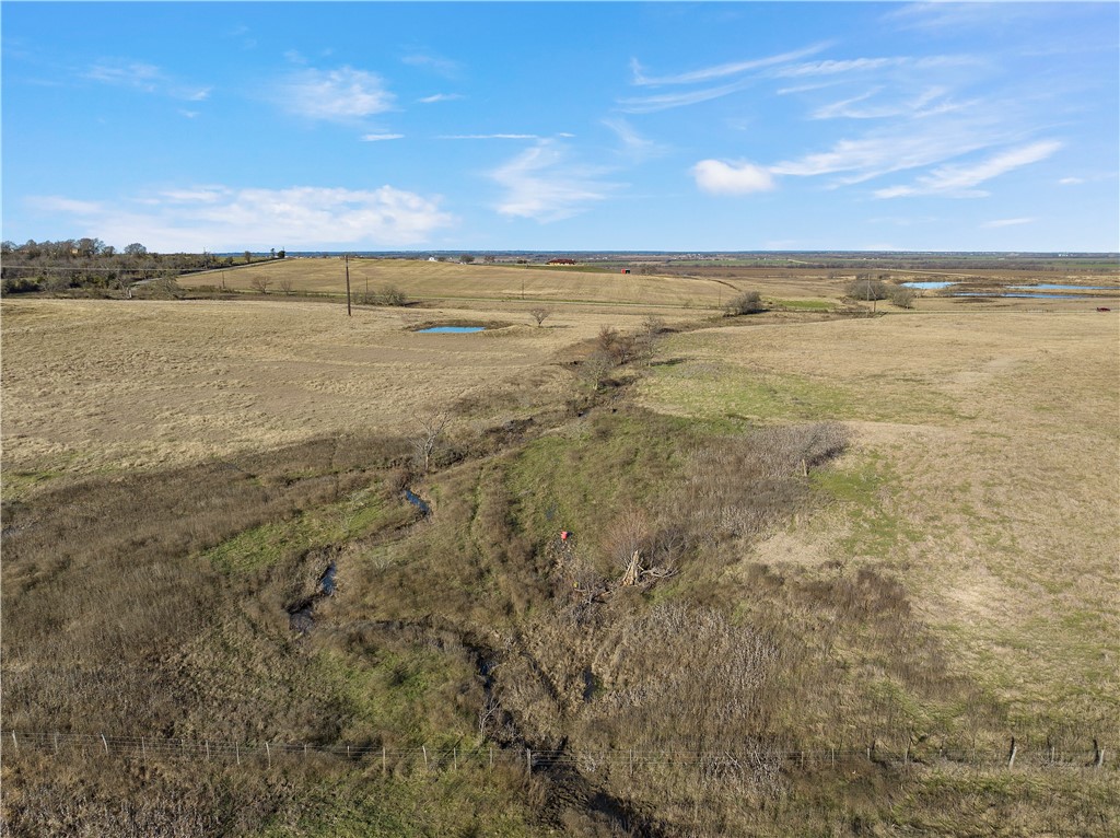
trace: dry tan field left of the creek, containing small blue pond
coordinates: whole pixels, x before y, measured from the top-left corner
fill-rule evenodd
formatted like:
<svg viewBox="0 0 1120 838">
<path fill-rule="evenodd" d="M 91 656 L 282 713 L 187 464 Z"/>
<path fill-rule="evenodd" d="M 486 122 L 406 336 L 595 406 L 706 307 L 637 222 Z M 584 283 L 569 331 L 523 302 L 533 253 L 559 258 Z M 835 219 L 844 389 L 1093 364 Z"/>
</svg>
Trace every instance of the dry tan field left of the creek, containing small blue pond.
<svg viewBox="0 0 1120 838">
<path fill-rule="evenodd" d="M 562 387 L 550 366 L 623 311 L 357 308 L 292 301 L 3 302 L 6 493 L 53 475 L 179 465 L 325 432 L 407 431 L 423 411 L 503 387 Z M 417 324 L 482 319 L 477 335 Z"/>
</svg>

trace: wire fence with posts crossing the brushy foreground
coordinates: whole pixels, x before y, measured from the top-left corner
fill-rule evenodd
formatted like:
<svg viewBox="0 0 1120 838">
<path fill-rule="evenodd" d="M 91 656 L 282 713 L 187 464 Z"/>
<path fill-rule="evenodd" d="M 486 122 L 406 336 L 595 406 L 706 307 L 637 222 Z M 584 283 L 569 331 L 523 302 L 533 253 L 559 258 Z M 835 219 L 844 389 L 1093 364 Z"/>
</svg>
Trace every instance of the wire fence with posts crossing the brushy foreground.
<svg viewBox="0 0 1120 838">
<path fill-rule="evenodd" d="M 909 765 L 962 765 L 972 767 L 1012 769 L 1102 769 L 1113 770 L 1105 760 L 1105 749 L 1098 742 L 1084 751 L 1058 752 L 1053 747 L 1028 749 L 1012 738 L 1008 751 L 978 753 L 976 749 L 928 749 L 917 752 L 887 751 L 875 745 L 846 748 L 812 748 L 782 751 L 756 743 L 729 744 L 719 751 L 538 751 L 534 748 L 500 747 L 488 744 L 429 747 L 386 747 L 370 743 L 312 744 L 291 742 L 240 743 L 227 739 L 171 739 L 146 736 L 106 736 L 104 734 L 43 733 L 4 730 L 0 733 L 0 756 L 21 752 L 54 754 L 75 753 L 102 756 L 127 756 L 140 760 L 204 760 L 264 762 L 272 765 L 281 758 L 339 758 L 370 763 L 388 772 L 401 766 L 424 771 L 458 770 L 474 765 L 493 770 L 495 764 L 526 771 L 572 767 L 582 772 L 626 770 L 632 775 L 640 770 L 669 766 L 692 767 L 713 776 L 749 774 L 762 769 L 787 770 L 828 769 L 853 763 Z"/>
</svg>

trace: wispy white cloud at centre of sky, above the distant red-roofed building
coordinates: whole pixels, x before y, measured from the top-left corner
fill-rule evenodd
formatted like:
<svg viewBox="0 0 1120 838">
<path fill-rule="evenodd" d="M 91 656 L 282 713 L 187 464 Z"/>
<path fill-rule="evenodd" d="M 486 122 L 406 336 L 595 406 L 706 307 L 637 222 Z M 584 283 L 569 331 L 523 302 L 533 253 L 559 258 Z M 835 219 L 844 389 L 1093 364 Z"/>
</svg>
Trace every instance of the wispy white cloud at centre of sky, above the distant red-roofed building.
<svg viewBox="0 0 1120 838">
<path fill-rule="evenodd" d="M 572 164 L 553 140 L 541 140 L 489 173 L 505 194 L 497 204 L 503 215 L 559 221 L 578 215 L 619 187 L 601 179 L 603 169 Z"/>
</svg>

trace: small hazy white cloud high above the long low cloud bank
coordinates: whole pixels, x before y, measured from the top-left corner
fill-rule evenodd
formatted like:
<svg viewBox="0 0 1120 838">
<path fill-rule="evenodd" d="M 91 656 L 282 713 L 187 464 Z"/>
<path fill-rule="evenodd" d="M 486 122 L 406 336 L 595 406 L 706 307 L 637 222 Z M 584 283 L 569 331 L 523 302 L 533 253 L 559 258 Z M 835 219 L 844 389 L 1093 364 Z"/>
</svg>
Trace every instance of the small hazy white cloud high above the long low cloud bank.
<svg viewBox="0 0 1120 838">
<path fill-rule="evenodd" d="M 299 117 L 353 122 L 392 109 L 395 97 L 381 76 L 364 69 L 305 69 L 279 87 L 282 106 Z"/>
</svg>

